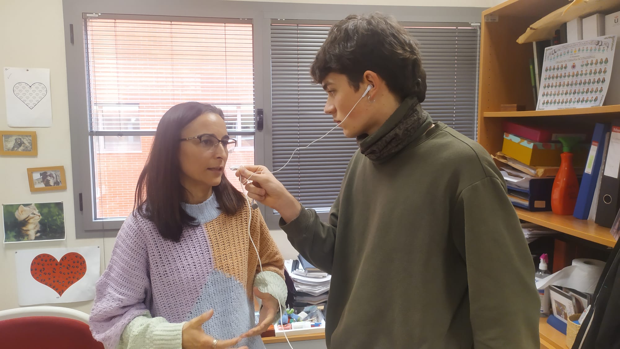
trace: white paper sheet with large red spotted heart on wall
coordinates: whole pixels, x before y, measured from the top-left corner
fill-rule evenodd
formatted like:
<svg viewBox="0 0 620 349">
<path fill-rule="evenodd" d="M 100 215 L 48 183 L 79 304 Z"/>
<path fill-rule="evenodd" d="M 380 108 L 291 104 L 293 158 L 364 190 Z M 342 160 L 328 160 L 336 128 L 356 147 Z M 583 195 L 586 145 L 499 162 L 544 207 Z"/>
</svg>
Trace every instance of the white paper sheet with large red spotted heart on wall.
<svg viewBox="0 0 620 349">
<path fill-rule="evenodd" d="M 20 306 L 95 299 L 99 247 L 41 248 L 15 252 Z"/>
</svg>

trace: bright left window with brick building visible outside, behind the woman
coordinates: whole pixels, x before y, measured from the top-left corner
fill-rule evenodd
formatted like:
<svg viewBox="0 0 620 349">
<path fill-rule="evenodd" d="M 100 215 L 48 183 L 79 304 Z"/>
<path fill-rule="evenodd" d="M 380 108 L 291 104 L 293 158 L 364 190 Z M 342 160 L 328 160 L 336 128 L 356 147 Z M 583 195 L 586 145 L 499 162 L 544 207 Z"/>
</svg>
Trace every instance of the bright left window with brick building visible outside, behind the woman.
<svg viewBox="0 0 620 349">
<path fill-rule="evenodd" d="M 220 107 L 229 134 L 237 138 L 228 161 L 254 163 L 252 23 L 183 20 L 85 19 L 94 219 L 131 212 L 157 123 L 175 104 L 199 101 Z"/>
</svg>

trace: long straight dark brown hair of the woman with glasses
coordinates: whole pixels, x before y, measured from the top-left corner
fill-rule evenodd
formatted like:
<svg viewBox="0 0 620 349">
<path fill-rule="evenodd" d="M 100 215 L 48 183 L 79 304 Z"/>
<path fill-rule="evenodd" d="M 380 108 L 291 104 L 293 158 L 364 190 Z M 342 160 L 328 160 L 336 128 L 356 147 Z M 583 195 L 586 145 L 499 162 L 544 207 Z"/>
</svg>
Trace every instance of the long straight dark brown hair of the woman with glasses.
<svg viewBox="0 0 620 349">
<path fill-rule="evenodd" d="M 181 130 L 202 114 L 211 112 L 224 118 L 218 107 L 200 102 L 185 102 L 170 108 L 159 120 L 151 152 L 138 178 L 134 199 L 134 215 L 151 220 L 159 234 L 179 242 L 184 226 L 196 226 L 194 217 L 181 207 L 187 189 L 181 185 L 179 163 L 179 138 Z M 213 193 L 226 214 L 235 214 L 246 201 L 222 176 Z"/>
</svg>

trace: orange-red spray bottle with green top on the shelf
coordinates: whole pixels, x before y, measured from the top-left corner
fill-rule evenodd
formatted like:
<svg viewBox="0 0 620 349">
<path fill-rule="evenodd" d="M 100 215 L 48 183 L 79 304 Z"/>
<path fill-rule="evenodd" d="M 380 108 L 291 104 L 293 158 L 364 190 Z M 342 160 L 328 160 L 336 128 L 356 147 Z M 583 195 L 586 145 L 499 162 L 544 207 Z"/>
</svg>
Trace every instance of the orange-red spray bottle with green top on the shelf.
<svg viewBox="0 0 620 349">
<path fill-rule="evenodd" d="M 572 142 L 567 138 L 570 137 L 559 138 L 562 145 L 564 145 L 564 152 L 560 154 L 562 158 L 560 170 L 557 171 L 556 179 L 553 181 L 553 188 L 551 189 L 551 211 L 559 215 L 573 214 L 575 204 L 577 203 L 577 195 L 579 194 L 577 174 L 573 168 L 573 154 L 570 153 L 569 143 Z"/>
</svg>

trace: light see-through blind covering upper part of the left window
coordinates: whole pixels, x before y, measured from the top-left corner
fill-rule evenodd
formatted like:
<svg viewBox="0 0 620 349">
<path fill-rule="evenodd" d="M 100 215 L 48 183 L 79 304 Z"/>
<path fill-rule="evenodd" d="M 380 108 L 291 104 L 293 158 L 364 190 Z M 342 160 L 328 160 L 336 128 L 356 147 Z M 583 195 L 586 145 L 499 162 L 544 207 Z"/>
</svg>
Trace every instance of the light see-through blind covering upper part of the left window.
<svg viewBox="0 0 620 349">
<path fill-rule="evenodd" d="M 87 17 L 91 135 L 136 130 L 97 106 L 136 104 L 138 130 L 154 131 L 167 109 L 187 101 L 223 109 L 229 130 L 254 131 L 252 24 L 200 20 Z"/>
</svg>

